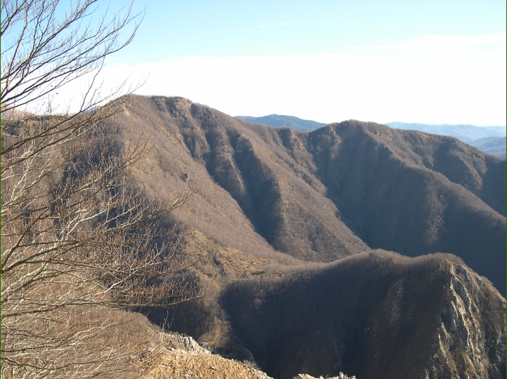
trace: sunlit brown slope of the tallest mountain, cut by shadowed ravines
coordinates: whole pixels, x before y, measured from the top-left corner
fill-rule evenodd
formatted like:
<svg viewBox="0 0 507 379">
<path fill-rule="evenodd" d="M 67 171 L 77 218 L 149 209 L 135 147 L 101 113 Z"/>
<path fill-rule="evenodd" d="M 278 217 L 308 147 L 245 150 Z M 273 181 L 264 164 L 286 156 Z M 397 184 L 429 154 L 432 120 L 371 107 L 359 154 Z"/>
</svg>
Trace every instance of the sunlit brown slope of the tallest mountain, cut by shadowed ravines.
<svg viewBox="0 0 507 379">
<path fill-rule="evenodd" d="M 153 129 L 151 171 L 145 169 L 138 180 L 160 196 L 167 191 L 162 186 L 177 187 L 174 183 L 187 173 L 199 173 L 198 199 L 192 198 L 184 218 L 205 233 L 233 247 L 267 241 L 270 246 L 264 248 L 303 260 L 330 261 L 367 248 L 336 218 L 338 210 L 322 196 L 322 184 L 313 177 L 321 187 L 315 191 L 301 178 L 301 171 L 311 174 L 293 170 L 297 165 L 284 148 L 263 139 L 272 128 L 250 130 L 242 121 L 182 98 L 136 101 L 129 115 L 111 122 Z"/>
</svg>

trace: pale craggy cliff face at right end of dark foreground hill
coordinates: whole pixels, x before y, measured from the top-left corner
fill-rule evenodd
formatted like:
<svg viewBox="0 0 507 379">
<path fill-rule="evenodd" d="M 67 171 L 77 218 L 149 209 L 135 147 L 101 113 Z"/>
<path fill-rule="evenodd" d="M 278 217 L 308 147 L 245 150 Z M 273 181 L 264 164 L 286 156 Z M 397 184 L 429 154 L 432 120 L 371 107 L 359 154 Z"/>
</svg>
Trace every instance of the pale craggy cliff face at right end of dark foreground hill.
<svg viewBox="0 0 507 379">
<path fill-rule="evenodd" d="M 491 309 L 484 291 L 489 284 L 464 266 L 452 265 L 449 272 L 449 301 L 441 308 L 426 378 L 505 378 L 506 336 L 501 323 L 491 323 L 503 314 Z"/>
</svg>

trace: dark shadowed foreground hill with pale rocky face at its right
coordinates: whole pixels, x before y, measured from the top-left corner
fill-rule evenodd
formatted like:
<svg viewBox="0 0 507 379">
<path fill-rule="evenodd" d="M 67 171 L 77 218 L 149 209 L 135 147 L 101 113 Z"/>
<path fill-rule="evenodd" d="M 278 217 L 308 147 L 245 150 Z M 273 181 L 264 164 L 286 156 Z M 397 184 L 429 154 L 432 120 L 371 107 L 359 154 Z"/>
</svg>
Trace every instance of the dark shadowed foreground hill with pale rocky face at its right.
<svg viewBox="0 0 507 379">
<path fill-rule="evenodd" d="M 275 378 L 503 378 L 505 300 L 451 255 L 385 251 L 223 295 L 232 327 Z"/>
</svg>

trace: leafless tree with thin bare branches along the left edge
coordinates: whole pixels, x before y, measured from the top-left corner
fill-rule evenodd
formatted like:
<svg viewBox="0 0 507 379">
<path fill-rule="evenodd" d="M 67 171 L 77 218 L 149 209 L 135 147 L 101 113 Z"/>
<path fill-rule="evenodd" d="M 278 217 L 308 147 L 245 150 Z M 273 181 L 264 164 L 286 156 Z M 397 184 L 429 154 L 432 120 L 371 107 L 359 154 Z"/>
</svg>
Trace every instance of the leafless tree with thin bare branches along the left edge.
<svg viewBox="0 0 507 379">
<path fill-rule="evenodd" d="M 142 14 L 92 22 L 97 4 L 63 13 L 58 0 L 1 2 L 2 378 L 137 375 L 146 340 L 124 310 L 198 295 L 174 276 L 191 262 L 176 259 L 178 238 L 160 222 L 197 181 L 170 201 L 147 199 L 129 172 L 149 135 L 119 143 L 100 122 L 129 106 L 94 80 Z M 44 114 L 18 110 L 88 74 L 77 112 L 53 114 L 51 100 Z M 154 280 L 163 275 L 172 279 Z"/>
</svg>

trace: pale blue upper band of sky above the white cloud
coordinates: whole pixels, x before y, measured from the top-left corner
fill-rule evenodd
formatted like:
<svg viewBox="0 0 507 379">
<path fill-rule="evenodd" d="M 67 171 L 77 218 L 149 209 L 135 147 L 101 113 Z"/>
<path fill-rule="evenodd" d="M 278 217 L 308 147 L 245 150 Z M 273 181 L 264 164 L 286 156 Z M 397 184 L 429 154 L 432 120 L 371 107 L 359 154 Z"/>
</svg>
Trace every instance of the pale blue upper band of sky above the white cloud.
<svg viewBox="0 0 507 379">
<path fill-rule="evenodd" d="M 146 3 L 136 1 L 136 9 Z M 425 34 L 479 36 L 505 29 L 505 1 L 151 0 L 136 39 L 116 58 L 353 53 L 355 46 Z"/>
</svg>

